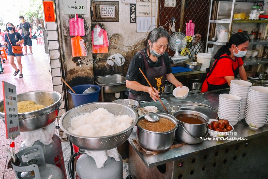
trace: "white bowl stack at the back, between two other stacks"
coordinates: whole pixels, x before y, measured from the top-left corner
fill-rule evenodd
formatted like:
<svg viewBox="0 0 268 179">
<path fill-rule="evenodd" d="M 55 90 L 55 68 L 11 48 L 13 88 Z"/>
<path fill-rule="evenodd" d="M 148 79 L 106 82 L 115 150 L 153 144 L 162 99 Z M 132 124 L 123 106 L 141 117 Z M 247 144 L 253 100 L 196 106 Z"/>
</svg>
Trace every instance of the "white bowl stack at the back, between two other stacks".
<svg viewBox="0 0 268 179">
<path fill-rule="evenodd" d="M 244 80 L 231 80 L 230 94 L 241 97 L 240 120 L 245 118 L 245 111 L 247 106 L 249 87 L 252 86 L 251 82 Z"/>
</svg>

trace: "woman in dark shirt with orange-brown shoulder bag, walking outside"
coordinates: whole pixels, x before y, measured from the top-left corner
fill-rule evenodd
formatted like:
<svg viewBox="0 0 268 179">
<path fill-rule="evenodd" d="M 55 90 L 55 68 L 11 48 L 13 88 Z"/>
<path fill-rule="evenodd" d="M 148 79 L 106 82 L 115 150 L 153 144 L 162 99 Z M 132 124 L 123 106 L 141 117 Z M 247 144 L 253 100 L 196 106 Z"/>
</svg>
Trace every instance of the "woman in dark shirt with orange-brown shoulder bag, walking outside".
<svg viewBox="0 0 268 179">
<path fill-rule="evenodd" d="M 22 36 L 20 35 L 20 33 L 15 32 L 15 27 L 10 22 L 6 24 L 6 31 L 8 33 L 5 35 L 5 45 L 9 44 L 8 59 L 9 59 L 10 65 L 15 69 L 13 76 L 17 76 L 17 74 L 20 72 L 19 78 L 23 78 L 21 56 L 24 56 L 24 55 L 20 47 L 20 44 L 24 43 L 24 40 Z M 14 63 L 15 57 L 17 59 L 19 69 L 17 68 L 17 65 Z"/>
</svg>

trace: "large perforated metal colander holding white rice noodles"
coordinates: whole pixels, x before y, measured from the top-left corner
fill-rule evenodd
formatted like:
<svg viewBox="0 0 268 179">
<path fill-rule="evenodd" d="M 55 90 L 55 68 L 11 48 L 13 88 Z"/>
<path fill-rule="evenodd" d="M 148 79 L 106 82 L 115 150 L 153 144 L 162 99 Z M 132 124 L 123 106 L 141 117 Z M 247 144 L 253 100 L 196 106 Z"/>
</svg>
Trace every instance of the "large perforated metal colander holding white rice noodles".
<svg viewBox="0 0 268 179">
<path fill-rule="evenodd" d="M 74 116 L 81 115 L 85 112 L 93 112 L 99 108 L 104 108 L 108 112 L 114 115 L 125 115 L 125 114 L 129 115 L 132 117 L 133 123 L 129 128 L 125 129 L 124 131 L 121 131 L 113 135 L 107 135 L 101 137 L 87 137 L 87 136 L 76 135 L 67 130 L 70 127 L 70 121 Z M 81 149 L 85 150 L 98 151 L 98 150 L 110 150 L 120 146 L 128 139 L 129 135 L 132 132 L 133 127 L 136 125 L 137 122 L 138 122 L 138 114 L 131 107 L 112 102 L 96 102 L 81 105 L 65 112 L 65 114 L 62 115 L 59 120 L 59 126 L 61 130 L 66 133 L 68 139 L 77 147 L 80 147 Z"/>
</svg>

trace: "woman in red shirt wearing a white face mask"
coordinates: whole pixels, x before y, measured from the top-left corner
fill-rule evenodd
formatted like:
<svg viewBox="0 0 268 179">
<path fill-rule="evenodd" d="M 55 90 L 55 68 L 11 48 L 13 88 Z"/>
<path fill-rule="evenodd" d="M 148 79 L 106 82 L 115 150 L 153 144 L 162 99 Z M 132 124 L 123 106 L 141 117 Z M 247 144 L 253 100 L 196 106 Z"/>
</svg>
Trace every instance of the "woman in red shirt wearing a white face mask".
<svg viewBox="0 0 268 179">
<path fill-rule="evenodd" d="M 247 81 L 247 75 L 241 57 L 246 55 L 250 39 L 248 35 L 238 32 L 214 55 L 214 62 L 202 85 L 201 92 L 229 88 L 231 80 L 239 74 Z"/>
</svg>

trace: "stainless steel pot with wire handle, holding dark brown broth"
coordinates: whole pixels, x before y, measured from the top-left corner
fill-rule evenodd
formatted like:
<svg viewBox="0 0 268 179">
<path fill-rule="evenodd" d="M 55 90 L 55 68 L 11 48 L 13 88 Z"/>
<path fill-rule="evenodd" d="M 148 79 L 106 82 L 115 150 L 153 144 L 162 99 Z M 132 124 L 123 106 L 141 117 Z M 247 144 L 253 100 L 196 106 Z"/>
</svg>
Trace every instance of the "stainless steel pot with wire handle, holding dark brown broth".
<svg viewBox="0 0 268 179">
<path fill-rule="evenodd" d="M 188 144 L 201 143 L 203 140 L 200 139 L 200 137 L 206 137 L 208 134 L 207 123 L 209 122 L 209 117 L 201 112 L 192 110 L 180 110 L 174 112 L 175 117 L 179 114 L 194 114 L 196 116 L 204 118 L 207 121 L 204 124 L 188 124 L 177 120 L 178 128 L 175 134 L 176 139 Z"/>
</svg>

